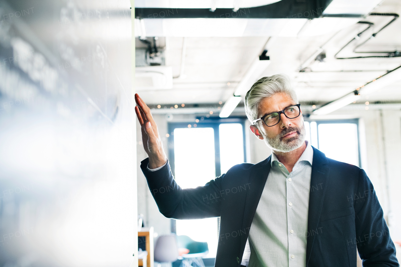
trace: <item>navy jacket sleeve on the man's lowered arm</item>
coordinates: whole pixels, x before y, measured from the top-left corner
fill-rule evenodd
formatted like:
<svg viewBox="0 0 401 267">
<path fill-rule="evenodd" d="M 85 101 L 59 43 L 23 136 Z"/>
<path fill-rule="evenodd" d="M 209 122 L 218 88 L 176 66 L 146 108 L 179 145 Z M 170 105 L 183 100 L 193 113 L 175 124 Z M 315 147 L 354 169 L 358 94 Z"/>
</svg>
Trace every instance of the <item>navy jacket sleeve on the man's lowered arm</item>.
<svg viewBox="0 0 401 267">
<path fill-rule="evenodd" d="M 359 171 L 358 183 L 356 194 L 362 197 L 354 204 L 355 227 L 358 253 L 363 266 L 398 267 L 395 246 L 383 218 L 383 210 L 373 184 L 362 169 Z"/>
</svg>

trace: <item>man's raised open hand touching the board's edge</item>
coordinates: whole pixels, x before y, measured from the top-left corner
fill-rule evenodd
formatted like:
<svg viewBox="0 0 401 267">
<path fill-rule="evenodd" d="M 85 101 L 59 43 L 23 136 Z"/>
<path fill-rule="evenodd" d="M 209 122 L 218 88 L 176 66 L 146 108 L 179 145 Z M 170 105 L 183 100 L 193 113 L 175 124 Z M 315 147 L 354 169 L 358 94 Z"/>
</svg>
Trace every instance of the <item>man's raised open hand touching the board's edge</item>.
<svg viewBox="0 0 401 267">
<path fill-rule="evenodd" d="M 149 156 L 149 168 L 155 169 L 166 163 L 166 154 L 159 138 L 157 125 L 153 120 L 152 113 L 150 113 L 150 108 L 138 94 L 135 94 L 135 102 L 135 113 L 141 125 L 142 143 Z"/>
</svg>

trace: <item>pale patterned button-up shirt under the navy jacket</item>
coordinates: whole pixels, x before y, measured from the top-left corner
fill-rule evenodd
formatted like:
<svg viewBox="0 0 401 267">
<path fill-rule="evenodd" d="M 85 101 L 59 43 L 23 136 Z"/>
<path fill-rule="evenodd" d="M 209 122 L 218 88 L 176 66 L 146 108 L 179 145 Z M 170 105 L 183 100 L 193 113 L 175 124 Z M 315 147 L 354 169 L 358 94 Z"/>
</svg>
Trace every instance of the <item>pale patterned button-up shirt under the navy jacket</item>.
<svg viewBox="0 0 401 267">
<path fill-rule="evenodd" d="M 249 230 L 248 267 L 305 267 L 313 149 L 289 173 L 274 153 Z"/>
</svg>

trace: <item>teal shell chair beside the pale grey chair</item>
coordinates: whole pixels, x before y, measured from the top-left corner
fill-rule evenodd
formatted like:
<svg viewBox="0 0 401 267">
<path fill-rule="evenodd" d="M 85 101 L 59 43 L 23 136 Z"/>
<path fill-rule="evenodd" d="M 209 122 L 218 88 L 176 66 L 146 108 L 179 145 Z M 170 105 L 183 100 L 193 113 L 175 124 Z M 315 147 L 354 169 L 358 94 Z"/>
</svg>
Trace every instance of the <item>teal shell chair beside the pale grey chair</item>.
<svg viewBox="0 0 401 267">
<path fill-rule="evenodd" d="M 202 257 L 209 253 L 207 242 L 197 242 L 186 235 L 177 236 L 178 248 L 188 249 L 188 254 L 181 255 L 183 267 L 205 267 Z M 194 265 L 195 264 L 195 265 Z"/>
</svg>

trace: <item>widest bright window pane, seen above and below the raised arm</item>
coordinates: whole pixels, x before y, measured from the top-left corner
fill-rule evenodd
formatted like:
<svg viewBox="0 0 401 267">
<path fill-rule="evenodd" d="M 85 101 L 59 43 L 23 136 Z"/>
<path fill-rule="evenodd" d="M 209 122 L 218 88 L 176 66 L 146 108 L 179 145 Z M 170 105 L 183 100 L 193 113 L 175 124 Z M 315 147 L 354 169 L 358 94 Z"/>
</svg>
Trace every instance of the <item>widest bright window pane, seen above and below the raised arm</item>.
<svg viewBox="0 0 401 267">
<path fill-rule="evenodd" d="M 213 128 L 174 129 L 175 179 L 181 188 L 195 188 L 215 179 Z M 209 254 L 216 256 L 217 218 L 176 220 L 177 235 L 207 242 Z"/>
</svg>

